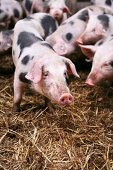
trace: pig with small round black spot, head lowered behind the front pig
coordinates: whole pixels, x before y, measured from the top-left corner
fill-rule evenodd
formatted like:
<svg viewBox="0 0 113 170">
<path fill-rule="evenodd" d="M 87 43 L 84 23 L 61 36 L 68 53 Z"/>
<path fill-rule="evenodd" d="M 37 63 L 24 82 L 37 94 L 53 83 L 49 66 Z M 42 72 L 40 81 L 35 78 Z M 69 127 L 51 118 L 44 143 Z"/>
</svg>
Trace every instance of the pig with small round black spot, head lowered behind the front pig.
<svg viewBox="0 0 113 170">
<path fill-rule="evenodd" d="M 46 41 L 59 55 L 69 56 L 75 52 L 78 46 L 77 39 L 87 26 L 90 10 L 95 14 L 113 13 L 108 8 L 88 6 L 66 19 L 54 33 L 46 38 Z"/>
</svg>

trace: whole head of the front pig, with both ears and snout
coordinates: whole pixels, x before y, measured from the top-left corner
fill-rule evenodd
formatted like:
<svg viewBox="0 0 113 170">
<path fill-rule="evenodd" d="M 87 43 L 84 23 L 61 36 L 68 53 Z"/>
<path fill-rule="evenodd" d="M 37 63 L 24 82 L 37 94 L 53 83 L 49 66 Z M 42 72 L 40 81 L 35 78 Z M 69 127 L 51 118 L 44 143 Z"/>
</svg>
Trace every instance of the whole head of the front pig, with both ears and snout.
<svg viewBox="0 0 113 170">
<path fill-rule="evenodd" d="M 69 105 L 72 103 L 73 97 L 67 86 L 67 65 L 76 77 L 79 77 L 79 75 L 74 64 L 69 59 L 58 57 L 56 61 L 54 59 L 52 62 L 48 61 L 46 57 L 44 57 L 43 61 L 35 62 L 25 77 L 33 82 L 33 87 L 36 91 L 39 91 L 52 102 Z M 57 69 L 55 65 L 57 65 Z"/>
</svg>

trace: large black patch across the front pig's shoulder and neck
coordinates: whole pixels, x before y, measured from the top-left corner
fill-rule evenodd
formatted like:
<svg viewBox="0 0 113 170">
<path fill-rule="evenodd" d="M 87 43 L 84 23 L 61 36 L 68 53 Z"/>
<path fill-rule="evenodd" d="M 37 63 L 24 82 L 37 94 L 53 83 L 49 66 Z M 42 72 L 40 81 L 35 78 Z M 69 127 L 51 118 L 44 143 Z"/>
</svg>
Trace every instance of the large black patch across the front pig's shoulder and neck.
<svg viewBox="0 0 113 170">
<path fill-rule="evenodd" d="M 23 31 L 18 36 L 17 44 L 20 45 L 21 50 L 23 50 L 25 47 L 29 47 L 37 41 L 43 41 L 43 39 L 35 36 L 33 33 Z"/>
</svg>

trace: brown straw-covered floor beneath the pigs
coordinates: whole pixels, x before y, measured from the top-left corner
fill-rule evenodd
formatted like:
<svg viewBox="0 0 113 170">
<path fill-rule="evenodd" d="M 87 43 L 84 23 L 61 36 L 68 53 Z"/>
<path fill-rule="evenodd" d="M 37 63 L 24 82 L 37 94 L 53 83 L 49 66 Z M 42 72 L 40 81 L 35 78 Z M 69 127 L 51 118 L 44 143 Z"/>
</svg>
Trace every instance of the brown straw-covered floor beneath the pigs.
<svg viewBox="0 0 113 170">
<path fill-rule="evenodd" d="M 0 57 L 0 170 L 113 170 L 113 88 L 88 87 L 79 71 L 72 106 L 49 111 L 28 89 L 12 113 L 12 59 Z"/>
</svg>

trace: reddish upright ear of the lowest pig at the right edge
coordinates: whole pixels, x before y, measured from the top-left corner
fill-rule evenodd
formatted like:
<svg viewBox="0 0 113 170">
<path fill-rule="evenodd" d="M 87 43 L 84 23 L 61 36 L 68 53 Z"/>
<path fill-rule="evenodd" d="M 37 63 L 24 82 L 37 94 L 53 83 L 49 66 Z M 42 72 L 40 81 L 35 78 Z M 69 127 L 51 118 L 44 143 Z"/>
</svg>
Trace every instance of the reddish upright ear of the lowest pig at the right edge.
<svg viewBox="0 0 113 170">
<path fill-rule="evenodd" d="M 79 45 L 83 54 L 87 56 L 90 60 L 92 60 L 95 52 L 96 52 L 96 46 L 94 45 Z"/>
</svg>

